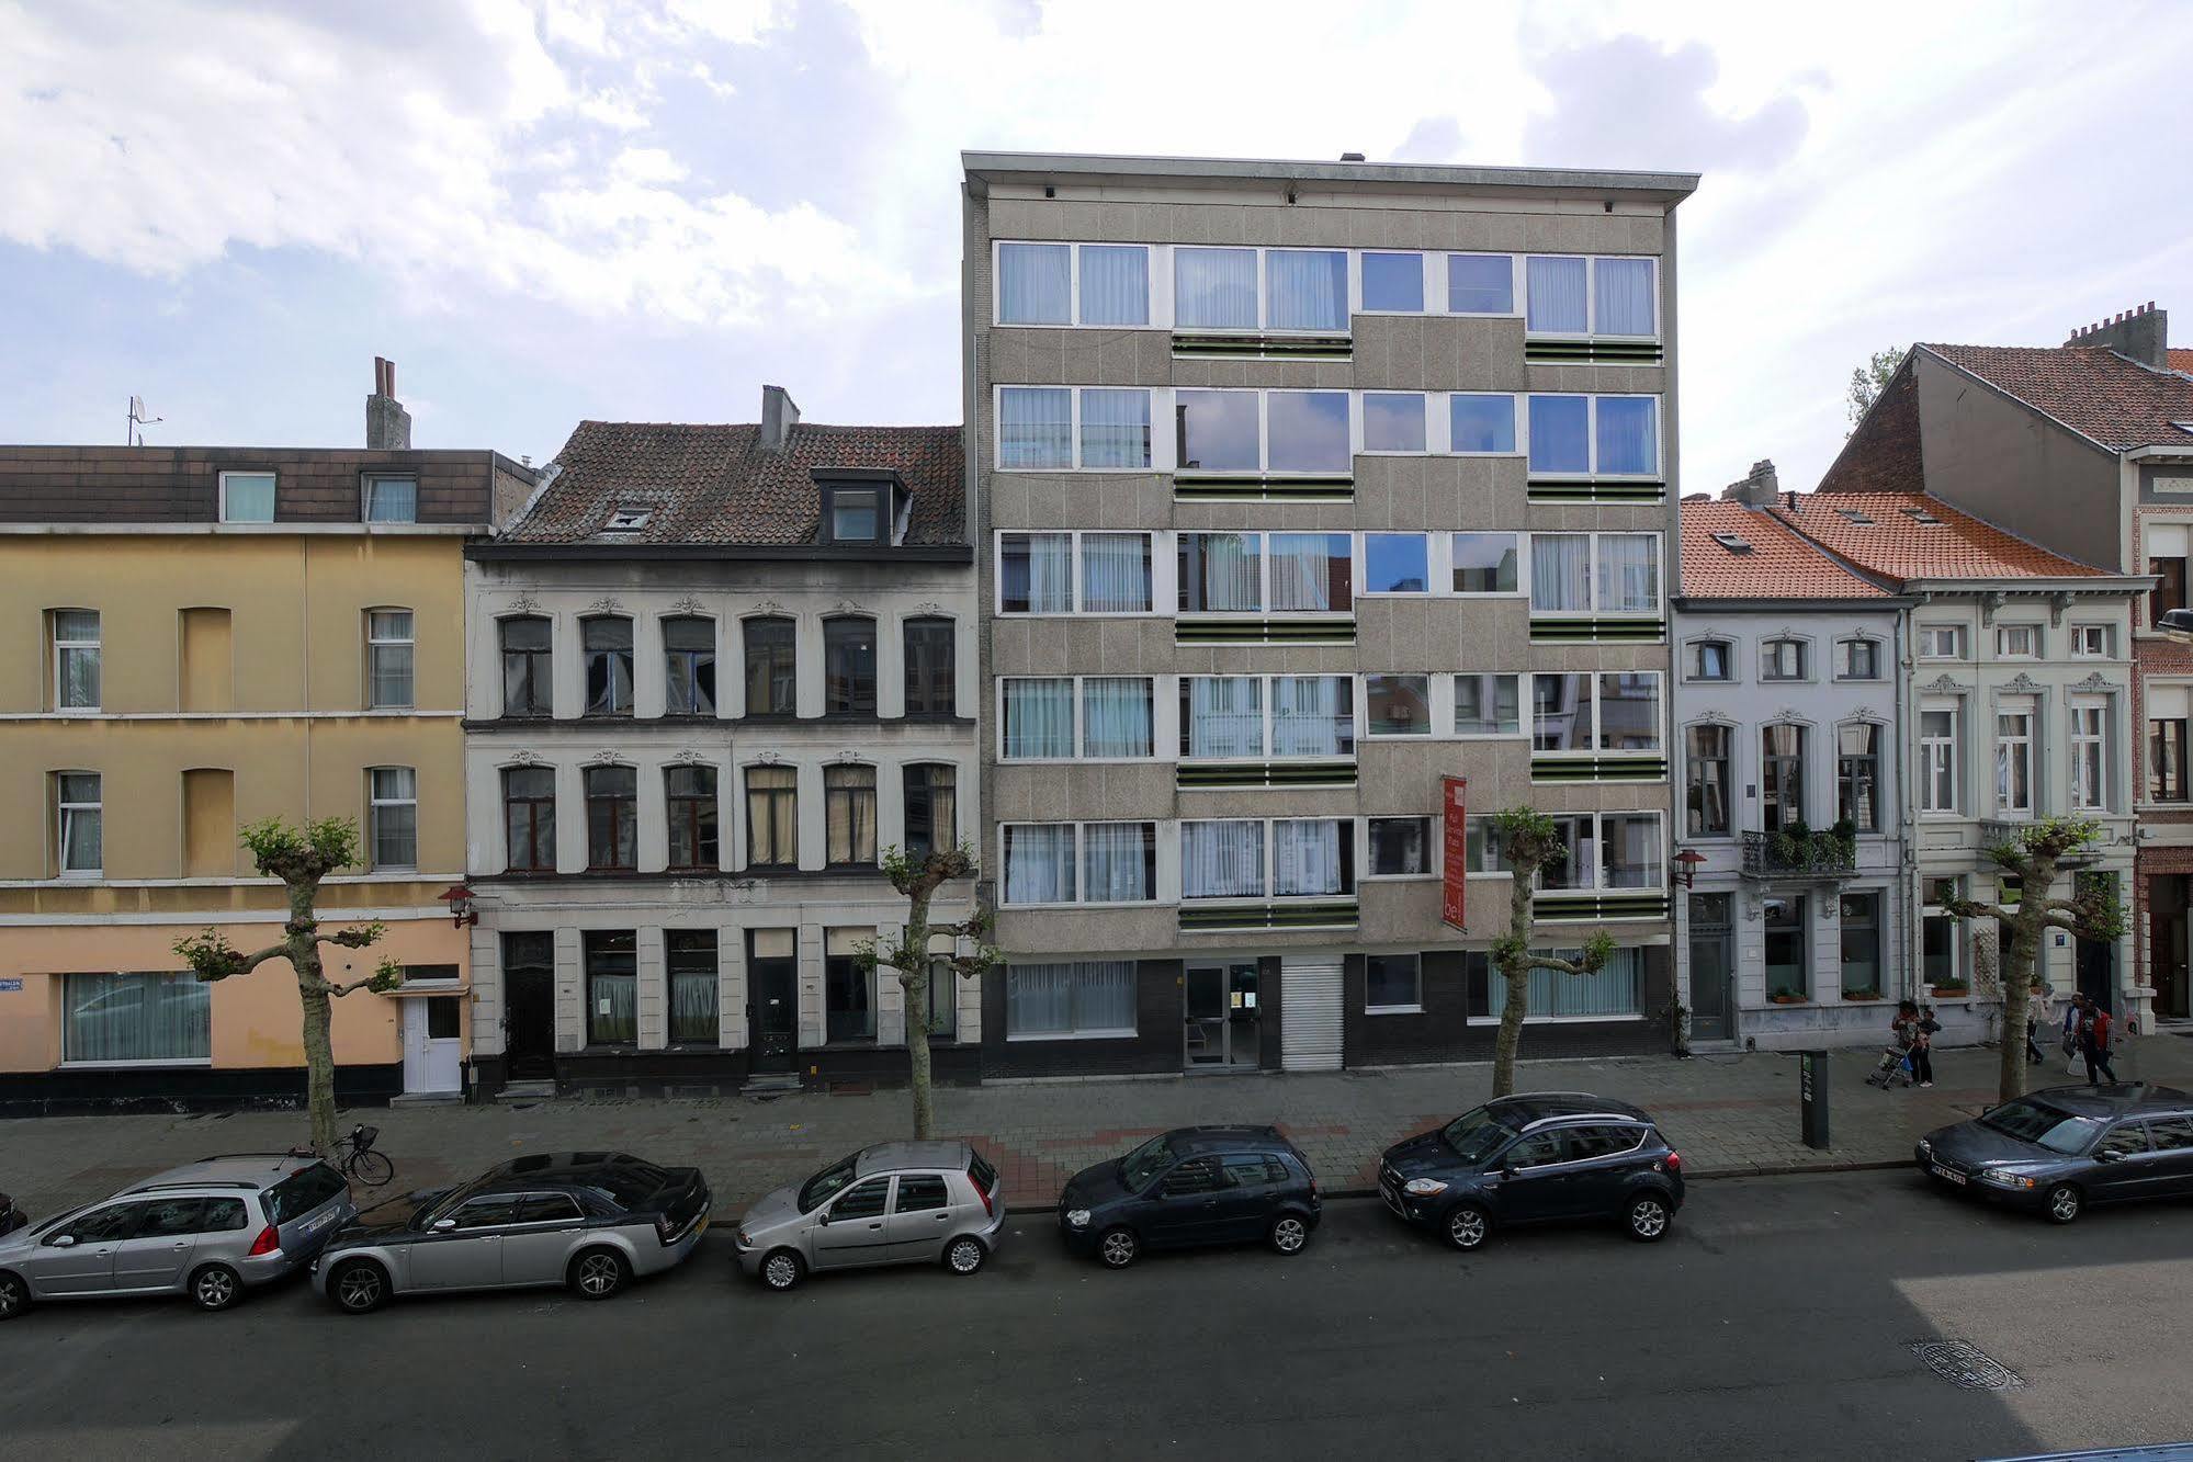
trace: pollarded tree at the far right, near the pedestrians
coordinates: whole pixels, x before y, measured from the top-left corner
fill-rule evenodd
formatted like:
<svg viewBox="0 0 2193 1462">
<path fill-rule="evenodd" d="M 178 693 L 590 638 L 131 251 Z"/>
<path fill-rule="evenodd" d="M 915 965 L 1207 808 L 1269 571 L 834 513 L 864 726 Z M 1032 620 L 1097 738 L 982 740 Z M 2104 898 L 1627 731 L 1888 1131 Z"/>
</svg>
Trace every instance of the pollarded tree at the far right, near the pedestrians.
<svg viewBox="0 0 2193 1462">
<path fill-rule="evenodd" d="M 2011 958 L 1998 971 L 2002 980 L 2002 1041 L 1996 1078 L 1998 1100 L 2013 1100 L 2026 1089 L 2026 1002 L 2033 997 L 2033 973 L 2042 951 L 2044 929 L 2064 929 L 2072 938 L 2116 943 L 2125 934 L 2125 905 L 2110 879 L 2088 877 L 2072 883 L 2070 899 L 2055 896 L 2064 861 L 2092 848 L 2103 837 L 2092 818 L 2042 818 L 2024 826 L 2011 842 L 1987 850 L 1987 857 L 2018 879 L 2018 903 L 1982 903 L 1950 899 L 1943 907 L 1956 918 L 1993 918 L 2011 932 Z"/>
</svg>

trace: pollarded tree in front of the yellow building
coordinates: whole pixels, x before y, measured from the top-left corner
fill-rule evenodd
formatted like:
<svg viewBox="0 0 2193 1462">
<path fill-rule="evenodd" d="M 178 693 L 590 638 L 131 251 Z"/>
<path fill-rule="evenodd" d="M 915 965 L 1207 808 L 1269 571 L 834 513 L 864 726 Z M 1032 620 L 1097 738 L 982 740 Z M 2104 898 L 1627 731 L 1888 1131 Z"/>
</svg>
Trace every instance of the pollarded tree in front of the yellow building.
<svg viewBox="0 0 2193 1462">
<path fill-rule="evenodd" d="M 283 934 L 265 949 L 243 953 L 219 929 L 175 940 L 175 953 L 206 982 L 243 975 L 270 960 L 287 960 L 296 971 L 296 993 L 305 1006 L 305 1105 L 311 1113 L 311 1149 L 327 1157 L 336 1149 L 336 1050 L 329 1041 L 329 1000 L 353 991 L 388 993 L 404 984 L 404 967 L 384 958 L 364 980 L 333 984 L 320 969 L 320 945 L 366 949 L 386 932 L 377 923 L 320 934 L 320 879 L 357 861 L 357 824 L 327 818 L 289 826 L 281 818 L 243 829 L 243 846 L 261 877 L 281 879 L 289 896 Z"/>
</svg>

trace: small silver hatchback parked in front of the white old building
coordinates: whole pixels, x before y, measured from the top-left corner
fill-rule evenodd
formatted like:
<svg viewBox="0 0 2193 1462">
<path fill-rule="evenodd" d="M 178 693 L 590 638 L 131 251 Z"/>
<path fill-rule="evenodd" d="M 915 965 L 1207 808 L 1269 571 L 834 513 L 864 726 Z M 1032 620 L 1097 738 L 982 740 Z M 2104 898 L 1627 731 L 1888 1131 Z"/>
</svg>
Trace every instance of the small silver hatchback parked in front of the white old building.
<svg viewBox="0 0 2193 1462">
<path fill-rule="evenodd" d="M 941 1263 L 974 1273 L 1004 1232 L 1004 1181 L 965 1142 L 879 1142 L 779 1188 L 739 1221 L 739 1269 L 792 1289 L 809 1269 Z"/>
</svg>

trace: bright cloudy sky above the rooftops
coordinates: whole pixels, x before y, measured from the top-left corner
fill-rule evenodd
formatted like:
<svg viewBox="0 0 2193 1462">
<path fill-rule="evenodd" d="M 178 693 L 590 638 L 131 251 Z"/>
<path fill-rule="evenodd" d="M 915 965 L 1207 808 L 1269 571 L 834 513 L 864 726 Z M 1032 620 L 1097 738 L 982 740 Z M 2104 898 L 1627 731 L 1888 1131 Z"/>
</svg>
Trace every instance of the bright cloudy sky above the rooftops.
<svg viewBox="0 0 2193 1462">
<path fill-rule="evenodd" d="M 958 421 L 958 151 L 1704 173 L 1684 487 L 1809 487 L 1912 340 L 2193 342 L 2193 7 L 0 0 L 0 441 L 550 456 Z"/>
</svg>

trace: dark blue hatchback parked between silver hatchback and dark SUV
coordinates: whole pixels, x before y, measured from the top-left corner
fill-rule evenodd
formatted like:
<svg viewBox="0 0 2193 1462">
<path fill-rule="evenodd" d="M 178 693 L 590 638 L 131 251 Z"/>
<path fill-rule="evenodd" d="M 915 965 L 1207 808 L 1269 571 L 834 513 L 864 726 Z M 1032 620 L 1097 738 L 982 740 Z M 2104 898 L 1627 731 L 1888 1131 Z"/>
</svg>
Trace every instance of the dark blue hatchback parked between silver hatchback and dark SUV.
<svg viewBox="0 0 2193 1462">
<path fill-rule="evenodd" d="M 1083 1168 L 1059 1195 L 1072 1254 L 1125 1269 L 1143 1249 L 1270 1243 L 1300 1254 L 1318 1227 L 1318 1179 L 1274 1127 L 1182 1127 Z"/>
</svg>

